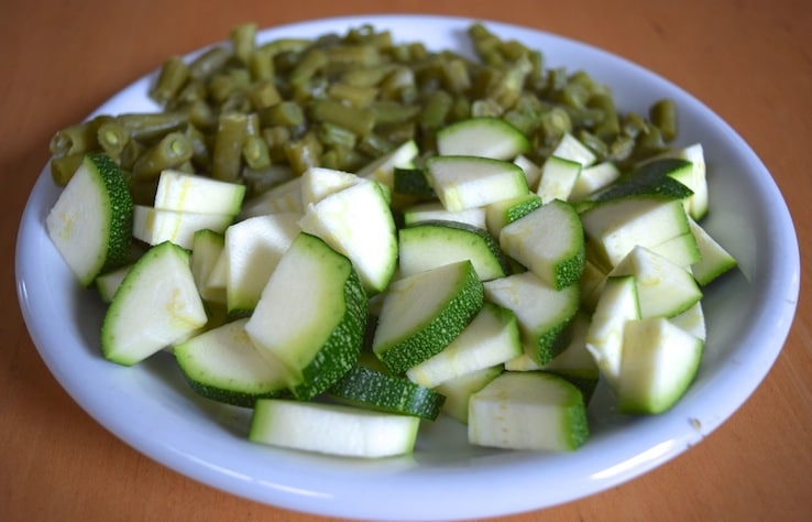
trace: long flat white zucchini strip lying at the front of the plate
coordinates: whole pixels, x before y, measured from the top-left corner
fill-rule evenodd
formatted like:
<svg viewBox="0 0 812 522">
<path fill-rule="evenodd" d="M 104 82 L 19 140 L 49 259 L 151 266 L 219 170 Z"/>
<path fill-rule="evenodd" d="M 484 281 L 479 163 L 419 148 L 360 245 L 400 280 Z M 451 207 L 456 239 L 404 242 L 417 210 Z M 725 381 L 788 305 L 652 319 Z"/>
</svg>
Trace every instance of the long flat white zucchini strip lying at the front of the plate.
<svg viewBox="0 0 812 522">
<path fill-rule="evenodd" d="M 249 431 L 255 443 L 344 457 L 413 453 L 420 417 L 342 404 L 261 399 Z"/>
</svg>

